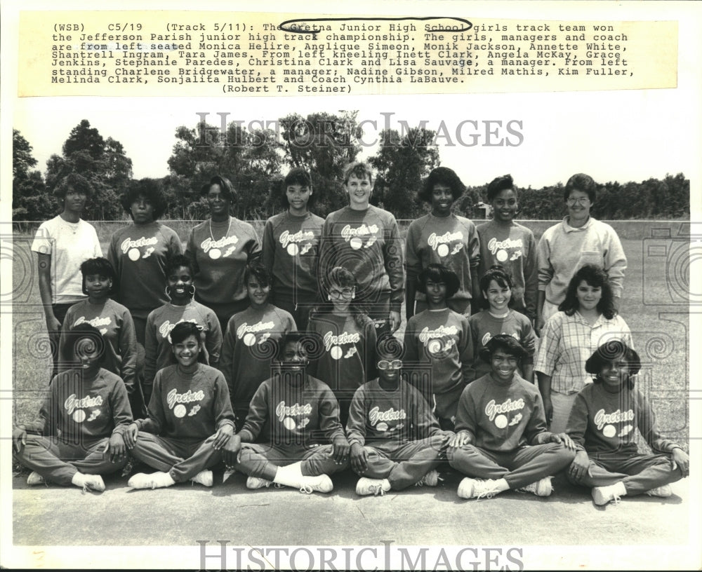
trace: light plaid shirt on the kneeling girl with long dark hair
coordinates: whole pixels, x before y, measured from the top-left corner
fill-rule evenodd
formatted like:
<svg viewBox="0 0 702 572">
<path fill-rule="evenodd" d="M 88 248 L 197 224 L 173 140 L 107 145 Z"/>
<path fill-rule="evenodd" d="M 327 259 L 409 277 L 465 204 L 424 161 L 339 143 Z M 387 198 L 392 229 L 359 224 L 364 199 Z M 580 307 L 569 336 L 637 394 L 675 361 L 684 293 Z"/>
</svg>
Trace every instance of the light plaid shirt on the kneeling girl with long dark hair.
<svg viewBox="0 0 702 572">
<path fill-rule="evenodd" d="M 620 315 L 608 320 L 604 315 L 594 325 L 576 311 L 573 315 L 557 312 L 546 322 L 538 346 L 534 371 L 551 376 L 551 390 L 578 393 L 592 377 L 585 362 L 595 350 L 611 339 L 620 339 L 633 348 L 631 332 Z"/>
</svg>

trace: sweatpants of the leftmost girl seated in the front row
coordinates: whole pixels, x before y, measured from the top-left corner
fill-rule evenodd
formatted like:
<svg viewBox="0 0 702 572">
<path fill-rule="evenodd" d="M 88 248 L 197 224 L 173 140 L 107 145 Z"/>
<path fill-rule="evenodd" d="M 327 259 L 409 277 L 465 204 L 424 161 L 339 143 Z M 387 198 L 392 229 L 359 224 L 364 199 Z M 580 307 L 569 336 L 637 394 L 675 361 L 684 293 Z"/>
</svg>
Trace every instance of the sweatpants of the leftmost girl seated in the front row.
<svg viewBox="0 0 702 572">
<path fill-rule="evenodd" d="M 79 471 L 85 475 L 105 475 L 124 467 L 126 458 L 112 463 L 110 454 L 102 453 L 108 441 L 104 437 L 78 444 L 56 437 L 27 435 L 27 444 L 13 456 L 20 465 L 37 471 L 46 482 L 68 485 Z"/>
</svg>

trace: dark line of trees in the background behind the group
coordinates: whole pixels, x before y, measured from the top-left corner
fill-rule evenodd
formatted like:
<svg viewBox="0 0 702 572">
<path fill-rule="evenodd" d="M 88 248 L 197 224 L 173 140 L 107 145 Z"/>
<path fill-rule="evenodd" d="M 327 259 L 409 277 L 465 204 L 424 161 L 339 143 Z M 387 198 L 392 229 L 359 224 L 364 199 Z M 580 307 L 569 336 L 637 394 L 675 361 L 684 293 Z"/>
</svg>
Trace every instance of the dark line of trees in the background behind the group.
<svg viewBox="0 0 702 572">
<path fill-rule="evenodd" d="M 206 123 L 176 129 L 176 144 L 168 158 L 168 175 L 160 179 L 168 200 L 164 219 L 204 219 L 207 208 L 200 189 L 216 174 L 229 178 L 239 198 L 234 214 L 240 219 L 266 219 L 281 210 L 274 198 L 286 170 L 303 167 L 317 191 L 314 212 L 325 217 L 347 204 L 343 168 L 361 151 L 362 128 L 357 113 L 317 113 L 306 118 L 289 114 L 279 121 L 279 136 L 270 129 L 251 130 L 237 122 L 226 132 Z M 376 170 L 371 203 L 389 210 L 397 219 L 414 219 L 428 211 L 416 193 L 430 170 L 439 166 L 436 133 L 423 127 L 404 132 L 383 130 L 376 154 L 368 159 Z M 69 134 L 62 153 L 46 163 L 46 177 L 34 169 L 32 146 L 13 130 L 13 220 L 44 220 L 60 210 L 53 189 L 70 172 L 88 179 L 94 189 L 84 217 L 88 220 L 123 219 L 119 196 L 132 181 L 132 161 L 112 137 L 104 139 L 84 119 Z M 449 165 L 450 166 L 450 165 Z M 482 218 L 486 184 L 468 186 L 453 205 L 458 214 Z M 518 189 L 519 219 L 560 219 L 564 216 L 563 184 L 541 189 Z M 600 185 L 592 214 L 598 219 L 689 218 L 690 183 L 682 173 L 663 180 Z"/>
</svg>

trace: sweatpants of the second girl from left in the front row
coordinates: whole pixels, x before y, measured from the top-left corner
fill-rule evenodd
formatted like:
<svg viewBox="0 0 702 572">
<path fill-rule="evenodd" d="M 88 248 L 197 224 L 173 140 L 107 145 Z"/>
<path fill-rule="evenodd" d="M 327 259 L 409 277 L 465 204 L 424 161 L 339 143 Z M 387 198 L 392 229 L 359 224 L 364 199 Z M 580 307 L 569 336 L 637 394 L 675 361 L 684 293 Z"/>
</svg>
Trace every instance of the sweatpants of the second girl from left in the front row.
<svg viewBox="0 0 702 572">
<path fill-rule="evenodd" d="M 213 442 L 214 435 L 200 441 L 140 432 L 131 452 L 142 463 L 167 472 L 176 482 L 184 482 L 222 460 L 220 451 L 212 447 Z"/>
</svg>

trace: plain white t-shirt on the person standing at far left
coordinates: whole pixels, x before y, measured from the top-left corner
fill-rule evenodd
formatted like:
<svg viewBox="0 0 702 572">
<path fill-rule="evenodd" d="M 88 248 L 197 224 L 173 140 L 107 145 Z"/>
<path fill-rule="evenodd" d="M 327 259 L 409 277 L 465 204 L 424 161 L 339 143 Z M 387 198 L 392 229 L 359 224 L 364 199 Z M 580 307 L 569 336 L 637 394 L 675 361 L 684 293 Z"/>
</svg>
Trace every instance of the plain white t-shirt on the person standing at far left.
<svg viewBox="0 0 702 572">
<path fill-rule="evenodd" d="M 51 302 L 74 304 L 85 299 L 81 264 L 102 256 L 98 233 L 80 219 L 66 222 L 60 216 L 41 223 L 32 251 L 51 254 Z"/>
</svg>

